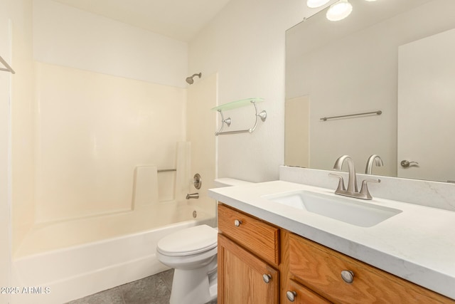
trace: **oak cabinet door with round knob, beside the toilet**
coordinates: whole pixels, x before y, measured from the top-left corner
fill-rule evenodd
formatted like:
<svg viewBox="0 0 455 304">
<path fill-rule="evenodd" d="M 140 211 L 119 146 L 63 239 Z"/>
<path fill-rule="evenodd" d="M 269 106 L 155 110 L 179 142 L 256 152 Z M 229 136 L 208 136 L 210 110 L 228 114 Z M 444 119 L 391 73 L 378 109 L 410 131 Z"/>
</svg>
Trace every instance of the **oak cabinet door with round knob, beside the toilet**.
<svg viewBox="0 0 455 304">
<path fill-rule="evenodd" d="M 264 281 L 264 275 L 269 276 L 269 283 Z M 218 303 L 279 303 L 278 271 L 221 234 L 218 234 Z"/>
</svg>

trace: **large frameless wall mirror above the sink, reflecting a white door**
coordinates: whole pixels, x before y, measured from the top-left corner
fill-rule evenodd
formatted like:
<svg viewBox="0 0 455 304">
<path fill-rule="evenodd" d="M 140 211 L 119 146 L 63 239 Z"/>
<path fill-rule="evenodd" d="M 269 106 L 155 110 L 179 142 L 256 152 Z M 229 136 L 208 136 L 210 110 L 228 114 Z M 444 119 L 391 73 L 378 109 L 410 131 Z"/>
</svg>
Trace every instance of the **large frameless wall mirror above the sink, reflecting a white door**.
<svg viewBox="0 0 455 304">
<path fill-rule="evenodd" d="M 455 1 L 349 1 L 286 33 L 285 164 L 454 181 Z"/>
</svg>

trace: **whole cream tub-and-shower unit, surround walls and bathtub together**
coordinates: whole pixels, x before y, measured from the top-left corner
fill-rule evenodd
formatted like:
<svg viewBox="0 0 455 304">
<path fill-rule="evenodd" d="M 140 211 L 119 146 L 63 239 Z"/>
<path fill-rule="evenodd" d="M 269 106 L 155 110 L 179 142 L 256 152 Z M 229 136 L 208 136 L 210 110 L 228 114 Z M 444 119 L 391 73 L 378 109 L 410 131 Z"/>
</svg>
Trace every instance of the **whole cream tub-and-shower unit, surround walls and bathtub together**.
<svg viewBox="0 0 455 304">
<path fill-rule="evenodd" d="M 161 237 L 215 225 L 210 180 L 199 199 L 185 196 L 194 170 L 214 178 L 215 119 L 193 121 L 209 108 L 196 102 L 215 102 L 216 75 L 187 94 L 60 65 L 35 70 L 35 220 L 16 247 L 13 281 L 53 293 L 13 300 L 61 303 L 163 271 Z"/>
</svg>

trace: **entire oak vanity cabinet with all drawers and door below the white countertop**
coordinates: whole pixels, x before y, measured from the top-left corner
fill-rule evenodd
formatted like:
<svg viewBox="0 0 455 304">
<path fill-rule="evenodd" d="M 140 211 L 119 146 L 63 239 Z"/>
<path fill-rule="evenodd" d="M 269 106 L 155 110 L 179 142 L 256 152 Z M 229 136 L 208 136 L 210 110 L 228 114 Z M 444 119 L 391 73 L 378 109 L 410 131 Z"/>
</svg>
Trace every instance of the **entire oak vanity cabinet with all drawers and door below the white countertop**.
<svg viewBox="0 0 455 304">
<path fill-rule="evenodd" d="M 218 303 L 455 303 L 224 204 L 218 229 Z"/>
</svg>

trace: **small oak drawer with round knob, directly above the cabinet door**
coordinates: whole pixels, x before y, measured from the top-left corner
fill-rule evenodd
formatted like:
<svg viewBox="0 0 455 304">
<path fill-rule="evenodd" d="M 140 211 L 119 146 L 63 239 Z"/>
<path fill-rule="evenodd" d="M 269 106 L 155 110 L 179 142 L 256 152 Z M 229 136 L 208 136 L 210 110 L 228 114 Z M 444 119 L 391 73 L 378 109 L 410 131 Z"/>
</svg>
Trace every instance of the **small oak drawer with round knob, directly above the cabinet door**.
<svg viewBox="0 0 455 304">
<path fill-rule="evenodd" d="M 277 227 L 218 204 L 218 230 L 264 261 L 274 265 L 279 264 L 279 229 Z"/>
</svg>

